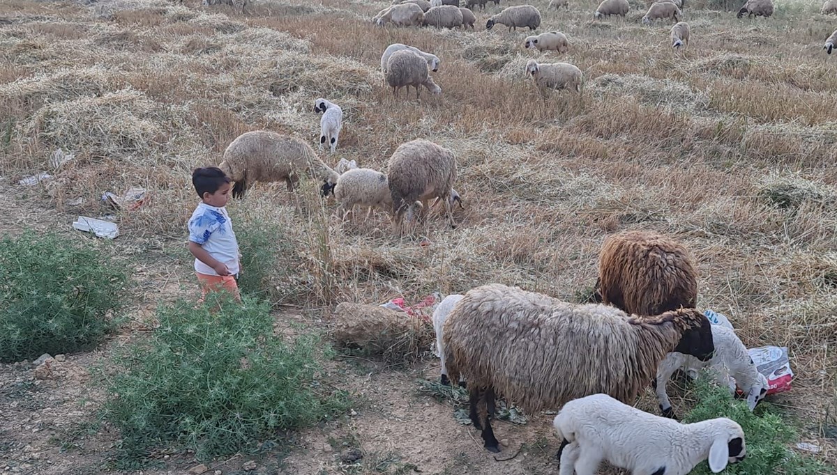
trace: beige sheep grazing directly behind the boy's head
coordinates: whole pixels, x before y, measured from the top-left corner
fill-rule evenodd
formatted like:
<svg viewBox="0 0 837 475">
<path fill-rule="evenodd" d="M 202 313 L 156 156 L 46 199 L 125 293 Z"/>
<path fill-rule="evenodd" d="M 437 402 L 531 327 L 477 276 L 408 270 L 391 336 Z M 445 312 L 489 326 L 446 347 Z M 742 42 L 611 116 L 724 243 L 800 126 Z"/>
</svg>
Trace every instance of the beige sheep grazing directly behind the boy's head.
<svg viewBox="0 0 837 475">
<path fill-rule="evenodd" d="M 300 171 L 323 181 L 321 192 L 327 196 L 337 183 L 337 172 L 323 163 L 304 141 L 269 130 L 245 132 L 230 142 L 218 165 L 234 182 L 233 197 L 244 197 L 254 181 L 285 181 L 293 192 Z"/>
</svg>

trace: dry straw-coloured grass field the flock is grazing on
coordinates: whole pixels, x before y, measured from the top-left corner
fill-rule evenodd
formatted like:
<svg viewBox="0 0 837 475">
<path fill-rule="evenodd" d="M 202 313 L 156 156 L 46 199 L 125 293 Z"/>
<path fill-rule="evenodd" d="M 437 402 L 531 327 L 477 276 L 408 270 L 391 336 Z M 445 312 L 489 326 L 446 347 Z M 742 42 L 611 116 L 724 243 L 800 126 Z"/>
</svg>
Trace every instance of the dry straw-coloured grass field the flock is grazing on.
<svg viewBox="0 0 837 475">
<path fill-rule="evenodd" d="M 148 190 L 118 214 L 113 243 L 134 273 L 131 324 L 100 350 L 69 355 L 58 381 L 33 387 L 28 366 L 0 366 L 0 471 L 110 470 L 119 434 L 85 430 L 102 399 L 90 368 L 146 333 L 158 303 L 196 294 L 184 246 L 192 169 L 218 164 L 248 130 L 316 146 L 317 97 L 344 113 L 336 154 L 320 154 L 328 164 L 384 170 L 399 144 L 434 140 L 456 154 L 465 210 L 455 229 L 434 214 L 398 237 L 383 213 L 331 217 L 336 205 L 319 207 L 316 184 L 296 198 L 303 212 L 284 184 L 255 186 L 228 208 L 237 230 L 280 230 L 285 251 L 270 276 L 280 324 L 327 329 L 339 302 L 417 302 L 490 282 L 577 300 L 608 233 L 664 232 L 696 258 L 701 309 L 727 314 L 747 346 L 788 347 L 793 391 L 770 400 L 837 467 L 837 442 L 824 437 L 837 425 L 837 58 L 823 51 L 837 18 L 819 0 L 776 0 L 773 17 L 740 20 L 739 3 L 688 0 L 691 44 L 675 52 L 671 23 L 644 26 L 639 3 L 597 21 L 594 0 L 568 11 L 535 0 L 537 33 L 571 43 L 567 54 L 537 54 L 523 49 L 525 30 L 485 31 L 491 14 L 519 3 L 489 3 L 475 32 L 378 28 L 382 0 L 256 0 L 244 15 L 199 0 L 0 3 L 0 234 L 54 228 L 101 245 L 72 230 L 74 218 L 103 214 L 104 192 Z M 379 67 L 390 43 L 438 55 L 442 94 L 393 97 Z M 583 94 L 540 96 L 524 76 L 531 58 L 576 64 Z M 54 170 L 58 148 L 74 159 Z M 54 177 L 18 185 L 39 171 Z M 557 472 L 550 417 L 498 424 L 506 456 L 523 445 L 496 462 L 450 406 L 419 395 L 415 379 L 438 376 L 432 357 L 331 369 L 362 396 L 353 415 L 301 432 L 286 458 L 261 459 L 256 472 Z M 650 391 L 640 406 L 655 411 Z M 341 464 L 340 441 L 362 449 L 360 466 Z M 238 473 L 245 460 L 208 465 Z M 159 461 L 144 472 L 197 464 L 187 453 Z"/>
</svg>

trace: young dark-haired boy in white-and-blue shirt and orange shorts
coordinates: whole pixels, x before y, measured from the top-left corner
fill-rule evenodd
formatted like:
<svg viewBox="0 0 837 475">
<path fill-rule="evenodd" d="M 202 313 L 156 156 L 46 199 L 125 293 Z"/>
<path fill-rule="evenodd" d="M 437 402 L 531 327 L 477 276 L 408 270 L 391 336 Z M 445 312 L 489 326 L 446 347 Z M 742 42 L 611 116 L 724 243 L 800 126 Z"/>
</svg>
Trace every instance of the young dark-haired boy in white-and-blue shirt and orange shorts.
<svg viewBox="0 0 837 475">
<path fill-rule="evenodd" d="M 192 173 L 192 184 L 201 202 L 189 218 L 189 252 L 195 257 L 195 273 L 201 286 L 201 301 L 208 292 L 227 290 L 239 300 L 235 278 L 240 270 L 239 243 L 233 223 L 224 208 L 229 199 L 229 177 L 209 166 Z"/>
</svg>

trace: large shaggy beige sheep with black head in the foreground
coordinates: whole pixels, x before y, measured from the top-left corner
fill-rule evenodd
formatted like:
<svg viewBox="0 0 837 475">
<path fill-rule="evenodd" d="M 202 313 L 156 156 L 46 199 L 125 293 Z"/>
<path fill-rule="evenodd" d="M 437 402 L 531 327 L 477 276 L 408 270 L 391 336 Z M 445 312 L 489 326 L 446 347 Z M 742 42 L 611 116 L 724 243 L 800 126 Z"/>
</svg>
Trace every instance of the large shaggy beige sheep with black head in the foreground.
<svg viewBox="0 0 837 475">
<path fill-rule="evenodd" d="M 500 394 L 529 414 L 598 392 L 633 402 L 671 351 L 708 360 L 710 325 L 696 309 L 638 317 L 491 283 L 454 306 L 442 343 L 450 381 L 468 381 L 485 448 L 500 452 L 483 400 Z"/>
</svg>

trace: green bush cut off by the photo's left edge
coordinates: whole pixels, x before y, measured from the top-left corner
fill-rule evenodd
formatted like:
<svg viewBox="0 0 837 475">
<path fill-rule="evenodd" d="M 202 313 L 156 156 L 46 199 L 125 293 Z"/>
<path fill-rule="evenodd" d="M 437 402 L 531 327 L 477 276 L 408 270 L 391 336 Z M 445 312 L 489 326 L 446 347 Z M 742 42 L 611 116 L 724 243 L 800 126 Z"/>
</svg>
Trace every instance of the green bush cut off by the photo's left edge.
<svg viewBox="0 0 837 475">
<path fill-rule="evenodd" d="M 89 350 L 115 327 L 125 268 L 85 243 L 33 231 L 0 240 L 0 361 Z"/>
</svg>

